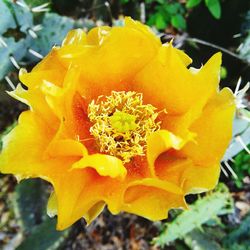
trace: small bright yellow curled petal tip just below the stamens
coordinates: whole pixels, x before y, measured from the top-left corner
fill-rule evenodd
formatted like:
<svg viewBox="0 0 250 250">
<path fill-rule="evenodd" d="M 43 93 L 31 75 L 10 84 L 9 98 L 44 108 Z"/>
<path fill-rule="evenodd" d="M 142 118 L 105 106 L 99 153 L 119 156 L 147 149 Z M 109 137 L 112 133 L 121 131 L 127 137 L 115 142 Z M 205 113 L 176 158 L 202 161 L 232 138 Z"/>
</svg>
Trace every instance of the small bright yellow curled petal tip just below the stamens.
<svg viewBox="0 0 250 250">
<path fill-rule="evenodd" d="M 93 154 L 84 156 L 80 161 L 73 165 L 73 168 L 94 168 L 101 176 L 110 176 L 112 178 L 125 178 L 126 168 L 122 161 L 111 155 Z"/>
</svg>

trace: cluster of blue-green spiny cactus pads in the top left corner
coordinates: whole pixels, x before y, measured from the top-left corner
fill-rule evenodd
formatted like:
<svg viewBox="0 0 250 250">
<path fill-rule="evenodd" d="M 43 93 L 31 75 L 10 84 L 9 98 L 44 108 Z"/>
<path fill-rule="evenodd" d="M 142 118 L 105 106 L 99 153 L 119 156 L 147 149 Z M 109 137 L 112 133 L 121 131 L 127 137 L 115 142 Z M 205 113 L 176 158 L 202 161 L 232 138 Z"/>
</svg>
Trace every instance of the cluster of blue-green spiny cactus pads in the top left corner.
<svg viewBox="0 0 250 250">
<path fill-rule="evenodd" d="M 61 44 L 70 29 L 84 24 L 48 13 L 49 3 L 43 1 L 34 6 L 34 1 L 0 0 L 0 81 L 5 78 L 12 89 L 17 82 L 10 76 L 12 71 L 38 62 Z"/>
</svg>

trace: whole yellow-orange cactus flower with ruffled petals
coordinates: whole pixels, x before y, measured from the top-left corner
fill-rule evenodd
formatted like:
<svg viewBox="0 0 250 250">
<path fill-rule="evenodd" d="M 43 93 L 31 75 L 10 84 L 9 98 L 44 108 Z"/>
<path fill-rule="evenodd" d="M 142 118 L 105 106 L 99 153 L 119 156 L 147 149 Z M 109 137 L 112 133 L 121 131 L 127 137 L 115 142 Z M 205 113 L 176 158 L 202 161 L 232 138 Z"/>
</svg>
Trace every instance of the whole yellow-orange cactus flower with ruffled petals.
<svg viewBox="0 0 250 250">
<path fill-rule="evenodd" d="M 104 206 L 150 220 L 214 188 L 232 136 L 235 100 L 219 90 L 221 53 L 200 69 L 150 29 L 68 33 L 9 94 L 28 104 L 3 140 L 0 171 L 53 185 L 59 230 Z"/>
</svg>

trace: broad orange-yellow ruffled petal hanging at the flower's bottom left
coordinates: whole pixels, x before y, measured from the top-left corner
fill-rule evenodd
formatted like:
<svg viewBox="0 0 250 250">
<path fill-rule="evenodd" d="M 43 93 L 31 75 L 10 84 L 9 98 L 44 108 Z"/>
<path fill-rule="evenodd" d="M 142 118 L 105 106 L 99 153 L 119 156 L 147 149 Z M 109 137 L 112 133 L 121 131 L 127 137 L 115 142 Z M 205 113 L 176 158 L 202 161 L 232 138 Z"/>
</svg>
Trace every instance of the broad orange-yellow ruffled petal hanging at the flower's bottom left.
<svg viewBox="0 0 250 250">
<path fill-rule="evenodd" d="M 58 230 L 64 230 L 82 217 L 89 224 L 105 204 L 112 213 L 121 211 L 121 182 L 102 177 L 92 168 L 62 172 L 53 177 L 52 184 L 55 194 L 49 200 L 48 213 L 58 215 Z"/>
</svg>

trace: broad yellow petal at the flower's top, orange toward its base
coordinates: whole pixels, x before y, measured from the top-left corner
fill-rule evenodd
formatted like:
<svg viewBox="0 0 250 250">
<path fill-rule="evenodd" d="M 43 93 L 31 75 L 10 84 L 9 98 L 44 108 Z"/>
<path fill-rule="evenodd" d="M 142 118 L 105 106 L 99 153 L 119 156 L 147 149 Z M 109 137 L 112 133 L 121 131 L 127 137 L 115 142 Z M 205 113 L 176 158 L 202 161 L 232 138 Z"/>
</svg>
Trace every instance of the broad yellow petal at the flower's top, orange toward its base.
<svg viewBox="0 0 250 250">
<path fill-rule="evenodd" d="M 148 27 L 130 19 L 124 27 L 92 29 L 86 39 L 86 45 L 65 45 L 57 55 L 65 67 L 72 63 L 82 65 L 77 90 L 88 101 L 100 94 L 109 95 L 111 90 L 129 89 L 133 76 L 161 46 Z"/>
</svg>

